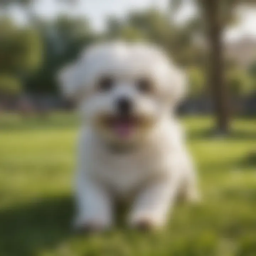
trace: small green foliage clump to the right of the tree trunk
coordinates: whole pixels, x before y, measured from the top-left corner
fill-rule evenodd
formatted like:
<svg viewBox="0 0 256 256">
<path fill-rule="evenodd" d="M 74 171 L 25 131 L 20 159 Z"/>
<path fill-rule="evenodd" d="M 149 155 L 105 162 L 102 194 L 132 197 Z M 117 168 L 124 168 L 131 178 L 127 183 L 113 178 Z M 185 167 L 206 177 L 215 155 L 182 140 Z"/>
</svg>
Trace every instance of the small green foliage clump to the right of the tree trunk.
<svg viewBox="0 0 256 256">
<path fill-rule="evenodd" d="M 252 92 L 252 78 L 246 71 L 232 69 L 227 72 L 226 79 L 232 95 L 243 96 Z"/>
</svg>

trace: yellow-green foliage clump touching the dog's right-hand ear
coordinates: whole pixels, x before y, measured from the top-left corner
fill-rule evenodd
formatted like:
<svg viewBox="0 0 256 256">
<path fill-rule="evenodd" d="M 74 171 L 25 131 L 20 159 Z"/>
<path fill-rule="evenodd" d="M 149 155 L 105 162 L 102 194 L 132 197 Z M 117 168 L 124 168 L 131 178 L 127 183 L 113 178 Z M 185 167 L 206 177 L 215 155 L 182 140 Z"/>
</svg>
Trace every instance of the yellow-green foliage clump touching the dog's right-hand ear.
<svg viewBox="0 0 256 256">
<path fill-rule="evenodd" d="M 201 96 L 206 86 L 206 78 L 202 69 L 192 67 L 188 69 L 189 95 L 191 97 Z"/>
</svg>

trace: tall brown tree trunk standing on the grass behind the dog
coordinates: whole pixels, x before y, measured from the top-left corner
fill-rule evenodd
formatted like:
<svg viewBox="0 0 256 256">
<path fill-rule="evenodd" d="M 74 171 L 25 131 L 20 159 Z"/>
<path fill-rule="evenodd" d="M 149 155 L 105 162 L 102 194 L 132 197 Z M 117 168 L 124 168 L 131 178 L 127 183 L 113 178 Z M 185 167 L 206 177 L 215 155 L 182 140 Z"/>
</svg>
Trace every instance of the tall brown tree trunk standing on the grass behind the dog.
<svg viewBox="0 0 256 256">
<path fill-rule="evenodd" d="M 224 82 L 223 24 L 220 17 L 221 0 L 203 0 L 209 46 L 209 86 L 214 103 L 217 132 L 229 132 L 229 103 Z"/>
</svg>

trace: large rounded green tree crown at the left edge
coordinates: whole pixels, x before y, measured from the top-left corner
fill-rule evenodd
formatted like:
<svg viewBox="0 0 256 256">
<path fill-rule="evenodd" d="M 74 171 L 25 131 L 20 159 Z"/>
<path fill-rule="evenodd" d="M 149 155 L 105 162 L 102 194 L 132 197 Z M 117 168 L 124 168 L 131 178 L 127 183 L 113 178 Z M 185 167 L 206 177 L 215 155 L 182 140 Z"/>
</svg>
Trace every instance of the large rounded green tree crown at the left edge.
<svg viewBox="0 0 256 256">
<path fill-rule="evenodd" d="M 41 64 L 41 42 L 38 33 L 21 28 L 8 19 L 0 21 L 0 75 L 23 80 Z"/>
</svg>

